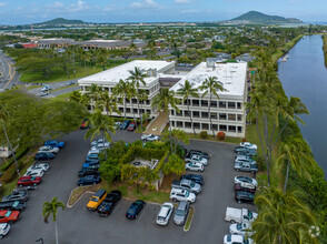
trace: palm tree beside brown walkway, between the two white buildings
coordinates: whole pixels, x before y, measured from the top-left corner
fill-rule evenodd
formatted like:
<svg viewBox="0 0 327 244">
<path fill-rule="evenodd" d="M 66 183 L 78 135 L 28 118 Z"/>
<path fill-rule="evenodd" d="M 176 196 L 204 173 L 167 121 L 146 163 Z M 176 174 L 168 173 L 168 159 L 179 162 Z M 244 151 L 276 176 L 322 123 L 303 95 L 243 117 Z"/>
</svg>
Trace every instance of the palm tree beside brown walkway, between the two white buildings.
<svg viewBox="0 0 327 244">
<path fill-rule="evenodd" d="M 172 138 L 171 138 L 171 122 L 169 119 L 169 106 L 179 112 L 177 108 L 179 100 L 175 98 L 175 92 L 169 89 L 162 89 L 160 93 L 153 99 L 152 108 L 157 108 L 158 110 L 164 110 L 168 114 L 169 122 L 169 135 L 170 135 L 170 148 L 172 153 Z"/>
</svg>

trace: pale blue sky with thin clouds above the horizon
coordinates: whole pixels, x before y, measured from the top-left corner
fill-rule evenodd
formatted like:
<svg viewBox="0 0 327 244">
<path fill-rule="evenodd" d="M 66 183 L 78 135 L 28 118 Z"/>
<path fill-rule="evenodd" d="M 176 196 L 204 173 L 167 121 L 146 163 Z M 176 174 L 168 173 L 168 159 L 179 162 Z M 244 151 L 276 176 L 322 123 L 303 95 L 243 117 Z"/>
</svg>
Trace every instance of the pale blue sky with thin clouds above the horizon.
<svg viewBox="0 0 327 244">
<path fill-rule="evenodd" d="M 0 0 L 0 24 L 59 17 L 106 23 L 220 21 L 250 10 L 327 22 L 326 0 Z"/>
</svg>

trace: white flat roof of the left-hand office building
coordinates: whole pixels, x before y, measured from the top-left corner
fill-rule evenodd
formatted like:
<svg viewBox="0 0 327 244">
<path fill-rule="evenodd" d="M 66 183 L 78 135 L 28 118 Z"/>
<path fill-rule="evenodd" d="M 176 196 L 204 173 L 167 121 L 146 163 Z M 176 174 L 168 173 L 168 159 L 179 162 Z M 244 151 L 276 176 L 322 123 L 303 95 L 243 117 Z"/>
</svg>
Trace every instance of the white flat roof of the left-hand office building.
<svg viewBox="0 0 327 244">
<path fill-rule="evenodd" d="M 157 72 L 165 72 L 165 70 L 171 65 L 175 65 L 175 62 L 169 61 L 152 61 L 152 60 L 135 60 L 119 67 L 111 68 L 109 70 L 102 71 L 100 73 L 92 74 L 90 77 L 82 78 L 78 81 L 79 84 L 85 83 L 95 83 L 95 84 L 106 84 L 106 83 L 118 83 L 120 79 L 126 80 L 130 77 L 129 71 L 133 71 L 135 68 L 141 70 L 157 69 Z M 147 84 L 151 83 L 155 79 L 159 77 L 147 77 L 145 82 Z"/>
</svg>

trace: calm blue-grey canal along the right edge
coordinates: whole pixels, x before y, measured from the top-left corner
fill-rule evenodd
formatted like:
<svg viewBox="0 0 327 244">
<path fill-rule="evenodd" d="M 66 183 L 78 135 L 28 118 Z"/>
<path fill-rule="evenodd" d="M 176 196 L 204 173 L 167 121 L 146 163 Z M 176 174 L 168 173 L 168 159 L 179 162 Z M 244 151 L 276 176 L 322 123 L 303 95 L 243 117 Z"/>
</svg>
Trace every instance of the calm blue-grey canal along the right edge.
<svg viewBox="0 0 327 244">
<path fill-rule="evenodd" d="M 298 96 L 310 111 L 299 125 L 327 179 L 327 69 L 320 35 L 304 37 L 279 62 L 278 73 L 288 96 Z"/>
</svg>

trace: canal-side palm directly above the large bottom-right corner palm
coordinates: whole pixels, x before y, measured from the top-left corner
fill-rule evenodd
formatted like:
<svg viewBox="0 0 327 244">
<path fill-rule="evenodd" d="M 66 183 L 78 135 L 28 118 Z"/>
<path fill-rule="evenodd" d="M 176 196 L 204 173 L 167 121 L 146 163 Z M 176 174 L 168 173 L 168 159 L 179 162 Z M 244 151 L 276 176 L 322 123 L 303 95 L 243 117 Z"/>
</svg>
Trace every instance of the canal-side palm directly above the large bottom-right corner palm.
<svg viewBox="0 0 327 244">
<path fill-rule="evenodd" d="M 310 181 L 311 176 L 307 171 L 307 167 L 315 165 L 314 157 L 307 152 L 305 144 L 299 139 L 291 139 L 289 142 L 281 142 L 279 146 L 280 156 L 277 159 L 277 164 L 284 163 L 287 161 L 284 193 L 286 193 L 289 166 L 291 166 L 299 176 L 303 174 Z M 306 165 L 307 163 L 308 165 Z"/>
</svg>

